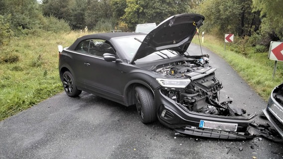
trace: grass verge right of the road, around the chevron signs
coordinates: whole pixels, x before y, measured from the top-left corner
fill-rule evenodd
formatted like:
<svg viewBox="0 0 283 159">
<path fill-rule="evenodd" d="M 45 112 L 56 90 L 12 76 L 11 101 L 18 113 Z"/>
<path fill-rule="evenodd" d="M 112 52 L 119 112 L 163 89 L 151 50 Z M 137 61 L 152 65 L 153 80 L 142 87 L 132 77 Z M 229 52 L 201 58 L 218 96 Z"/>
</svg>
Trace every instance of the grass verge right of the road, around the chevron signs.
<svg viewBox="0 0 283 159">
<path fill-rule="evenodd" d="M 197 36 L 193 42 L 199 44 Z M 219 40 L 210 35 L 205 35 L 201 45 L 222 57 L 266 101 L 272 89 L 283 82 L 283 62 L 278 62 L 276 76 L 272 79 L 275 61 L 268 59 L 267 52 L 258 53 L 251 47 L 246 49 L 245 55 L 237 54 L 231 51 L 234 48 L 229 44 L 224 51 L 224 38 Z"/>
</svg>

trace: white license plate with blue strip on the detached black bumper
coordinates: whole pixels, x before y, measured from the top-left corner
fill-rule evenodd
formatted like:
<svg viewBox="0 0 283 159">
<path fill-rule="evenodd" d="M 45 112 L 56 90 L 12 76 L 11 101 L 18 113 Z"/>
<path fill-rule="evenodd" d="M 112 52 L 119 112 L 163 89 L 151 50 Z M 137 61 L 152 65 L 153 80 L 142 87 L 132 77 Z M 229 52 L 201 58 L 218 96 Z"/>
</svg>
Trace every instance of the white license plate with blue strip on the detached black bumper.
<svg viewBox="0 0 283 159">
<path fill-rule="evenodd" d="M 199 127 L 224 131 L 237 131 L 238 124 L 200 120 Z"/>
</svg>

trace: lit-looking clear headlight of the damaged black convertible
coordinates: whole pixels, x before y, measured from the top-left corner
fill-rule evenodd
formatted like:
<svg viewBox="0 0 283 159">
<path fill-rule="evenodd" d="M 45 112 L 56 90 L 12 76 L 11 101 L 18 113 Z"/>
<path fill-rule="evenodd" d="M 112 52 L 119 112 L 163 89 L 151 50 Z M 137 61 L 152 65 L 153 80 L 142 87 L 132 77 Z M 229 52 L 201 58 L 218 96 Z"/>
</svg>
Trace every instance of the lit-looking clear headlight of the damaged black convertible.
<svg viewBox="0 0 283 159">
<path fill-rule="evenodd" d="M 174 88 L 184 88 L 191 82 L 191 79 L 156 79 L 156 80 L 163 87 L 174 87 Z"/>
</svg>

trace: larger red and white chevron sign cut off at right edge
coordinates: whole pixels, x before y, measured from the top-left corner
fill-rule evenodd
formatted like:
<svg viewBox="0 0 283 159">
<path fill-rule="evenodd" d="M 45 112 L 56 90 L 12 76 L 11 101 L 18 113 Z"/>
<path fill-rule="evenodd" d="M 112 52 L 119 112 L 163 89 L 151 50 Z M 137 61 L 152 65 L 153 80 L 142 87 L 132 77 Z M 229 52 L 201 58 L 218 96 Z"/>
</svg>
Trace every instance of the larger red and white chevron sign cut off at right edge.
<svg viewBox="0 0 283 159">
<path fill-rule="evenodd" d="M 283 61 L 283 42 L 272 41 L 270 43 L 268 58 L 270 60 Z"/>
</svg>

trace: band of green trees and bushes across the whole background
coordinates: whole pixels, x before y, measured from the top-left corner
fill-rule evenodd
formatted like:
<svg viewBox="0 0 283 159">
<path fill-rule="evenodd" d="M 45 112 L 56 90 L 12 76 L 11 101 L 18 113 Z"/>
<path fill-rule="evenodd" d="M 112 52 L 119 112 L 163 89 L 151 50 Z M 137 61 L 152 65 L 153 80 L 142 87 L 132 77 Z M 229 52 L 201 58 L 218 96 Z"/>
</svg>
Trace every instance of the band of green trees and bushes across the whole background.
<svg viewBox="0 0 283 159">
<path fill-rule="evenodd" d="M 160 23 L 185 12 L 206 17 L 202 31 L 223 38 L 256 36 L 254 46 L 283 40 L 282 0 L 1 0 L 0 43 L 25 29 L 133 31 L 138 23 Z M 61 19 L 57 24 L 53 18 Z M 48 20 L 53 20 L 48 26 Z M 61 29 L 54 25 L 63 25 Z M 46 26 L 47 25 L 47 26 Z M 48 29 L 51 27 L 53 29 Z M 59 30 L 54 30 L 59 29 Z M 260 40 L 258 40 L 260 37 Z M 255 39 L 255 38 L 252 38 Z"/>
</svg>

